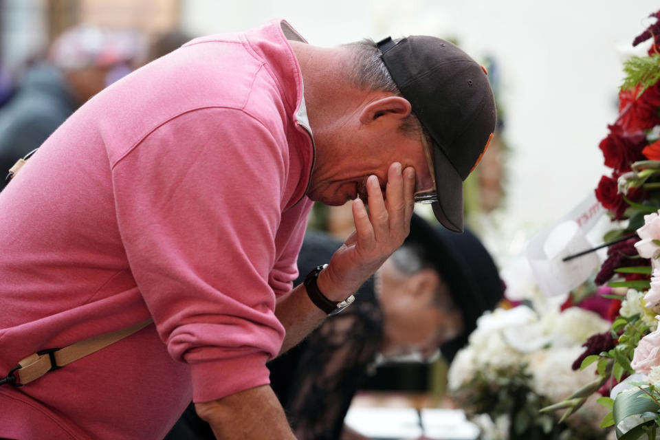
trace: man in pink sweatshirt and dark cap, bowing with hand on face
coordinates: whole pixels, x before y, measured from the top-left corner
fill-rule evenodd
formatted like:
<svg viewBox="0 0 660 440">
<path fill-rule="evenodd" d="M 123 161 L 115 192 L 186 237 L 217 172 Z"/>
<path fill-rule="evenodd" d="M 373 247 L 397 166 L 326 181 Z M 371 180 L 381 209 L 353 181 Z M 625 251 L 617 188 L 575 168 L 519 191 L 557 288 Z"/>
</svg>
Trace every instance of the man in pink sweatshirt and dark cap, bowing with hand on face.
<svg viewBox="0 0 660 440">
<path fill-rule="evenodd" d="M 0 436 L 156 439 L 192 397 L 217 437 L 292 438 L 265 362 L 350 303 L 404 240 L 415 191 L 462 228 L 452 191 L 494 128 L 485 73 L 454 46 L 366 46 L 307 45 L 283 21 L 196 39 L 56 130 L 0 193 Z M 358 195 L 355 234 L 288 292 L 312 201 Z"/>
</svg>

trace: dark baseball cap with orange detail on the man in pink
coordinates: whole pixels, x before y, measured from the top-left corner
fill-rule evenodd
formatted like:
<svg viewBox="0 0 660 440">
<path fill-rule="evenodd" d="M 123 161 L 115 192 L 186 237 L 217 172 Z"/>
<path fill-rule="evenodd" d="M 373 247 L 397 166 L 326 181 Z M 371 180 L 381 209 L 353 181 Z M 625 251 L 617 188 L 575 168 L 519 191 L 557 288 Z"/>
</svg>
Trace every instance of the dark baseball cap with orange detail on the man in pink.
<svg viewBox="0 0 660 440">
<path fill-rule="evenodd" d="M 377 47 L 401 96 L 431 137 L 435 217 L 463 232 L 463 181 L 495 130 L 495 99 L 486 69 L 463 50 L 433 36 L 391 37 Z"/>
</svg>

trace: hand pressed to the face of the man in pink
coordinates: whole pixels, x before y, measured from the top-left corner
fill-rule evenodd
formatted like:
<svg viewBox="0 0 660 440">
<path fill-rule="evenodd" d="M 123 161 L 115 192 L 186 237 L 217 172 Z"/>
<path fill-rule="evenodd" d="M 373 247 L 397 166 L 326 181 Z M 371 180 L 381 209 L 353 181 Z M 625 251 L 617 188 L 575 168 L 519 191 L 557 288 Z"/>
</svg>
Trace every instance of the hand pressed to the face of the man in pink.
<svg viewBox="0 0 660 440">
<path fill-rule="evenodd" d="M 385 195 L 373 175 L 367 179 L 366 188 L 369 212 L 362 200 L 353 201 L 355 232 L 318 276 L 320 291 L 331 300 L 343 300 L 358 290 L 410 232 L 415 170 L 401 170 L 401 164 L 395 162 L 388 169 Z"/>
</svg>

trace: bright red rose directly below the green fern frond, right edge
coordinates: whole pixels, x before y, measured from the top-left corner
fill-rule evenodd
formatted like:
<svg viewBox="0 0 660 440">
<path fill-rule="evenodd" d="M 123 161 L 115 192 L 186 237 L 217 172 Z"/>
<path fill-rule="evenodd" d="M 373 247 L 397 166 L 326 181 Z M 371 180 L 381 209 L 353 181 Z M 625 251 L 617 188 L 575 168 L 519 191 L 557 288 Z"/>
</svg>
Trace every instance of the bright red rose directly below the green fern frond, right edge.
<svg viewBox="0 0 660 440">
<path fill-rule="evenodd" d="M 639 98 L 640 86 L 619 92 L 619 119 L 617 124 L 627 132 L 650 130 L 660 124 L 660 84 L 656 83 L 644 91 Z"/>
</svg>

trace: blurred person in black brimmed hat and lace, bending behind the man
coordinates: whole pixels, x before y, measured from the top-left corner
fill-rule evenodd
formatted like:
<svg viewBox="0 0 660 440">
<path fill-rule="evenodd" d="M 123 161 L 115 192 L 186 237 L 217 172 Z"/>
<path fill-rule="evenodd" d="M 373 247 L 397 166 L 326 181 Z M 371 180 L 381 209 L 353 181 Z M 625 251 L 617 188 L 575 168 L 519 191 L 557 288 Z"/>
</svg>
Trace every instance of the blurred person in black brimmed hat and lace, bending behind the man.
<svg viewBox="0 0 660 440">
<path fill-rule="evenodd" d="M 326 232 L 307 231 L 300 274 L 328 261 L 341 244 Z M 503 296 L 492 256 L 470 230 L 455 234 L 413 214 L 410 235 L 364 283 L 355 303 L 267 364 L 296 438 L 364 439 L 344 426 L 344 417 L 377 360 L 415 354 L 428 362 L 441 351 L 451 362 L 476 318 Z M 192 404 L 166 437 L 211 439 Z"/>
</svg>

